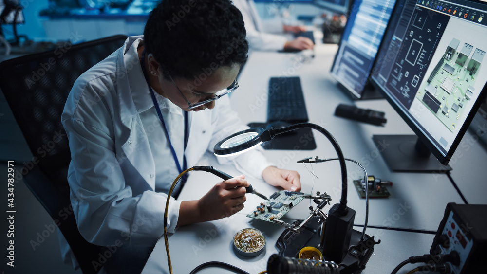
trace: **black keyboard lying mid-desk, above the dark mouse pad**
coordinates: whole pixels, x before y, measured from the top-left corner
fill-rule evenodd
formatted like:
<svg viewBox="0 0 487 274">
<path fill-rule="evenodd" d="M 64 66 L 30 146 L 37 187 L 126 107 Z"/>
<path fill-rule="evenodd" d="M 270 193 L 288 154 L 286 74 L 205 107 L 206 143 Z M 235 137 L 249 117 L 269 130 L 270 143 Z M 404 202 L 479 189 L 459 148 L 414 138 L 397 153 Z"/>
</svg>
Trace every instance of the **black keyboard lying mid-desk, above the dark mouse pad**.
<svg viewBox="0 0 487 274">
<path fill-rule="evenodd" d="M 267 101 L 267 122 L 308 122 L 300 77 L 271 77 Z"/>
</svg>

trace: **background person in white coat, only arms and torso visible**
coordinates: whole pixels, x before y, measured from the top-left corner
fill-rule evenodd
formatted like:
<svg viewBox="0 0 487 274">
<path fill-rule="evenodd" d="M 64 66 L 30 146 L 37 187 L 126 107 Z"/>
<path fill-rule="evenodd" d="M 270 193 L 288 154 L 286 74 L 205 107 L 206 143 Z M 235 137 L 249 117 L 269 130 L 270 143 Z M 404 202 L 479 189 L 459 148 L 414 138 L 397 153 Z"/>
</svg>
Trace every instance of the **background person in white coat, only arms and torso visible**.
<svg viewBox="0 0 487 274">
<path fill-rule="evenodd" d="M 313 49 L 313 41 L 307 37 L 297 37 L 289 41 L 283 35 L 273 33 L 299 33 L 306 31 L 302 26 L 284 25 L 278 20 L 263 22 L 253 0 L 232 0 L 242 12 L 247 31 L 247 40 L 252 50 L 300 51 Z"/>
</svg>

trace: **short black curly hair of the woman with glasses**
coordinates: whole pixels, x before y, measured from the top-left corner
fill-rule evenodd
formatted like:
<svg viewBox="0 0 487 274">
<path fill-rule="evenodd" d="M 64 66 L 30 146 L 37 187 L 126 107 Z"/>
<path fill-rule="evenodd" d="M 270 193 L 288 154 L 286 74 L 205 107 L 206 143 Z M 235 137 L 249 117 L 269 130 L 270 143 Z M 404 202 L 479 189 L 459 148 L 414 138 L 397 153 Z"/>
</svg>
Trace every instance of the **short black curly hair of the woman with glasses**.
<svg viewBox="0 0 487 274">
<path fill-rule="evenodd" d="M 150 12 L 144 45 L 166 78 L 191 79 L 208 69 L 243 65 L 245 36 L 242 13 L 229 0 L 162 0 Z"/>
</svg>

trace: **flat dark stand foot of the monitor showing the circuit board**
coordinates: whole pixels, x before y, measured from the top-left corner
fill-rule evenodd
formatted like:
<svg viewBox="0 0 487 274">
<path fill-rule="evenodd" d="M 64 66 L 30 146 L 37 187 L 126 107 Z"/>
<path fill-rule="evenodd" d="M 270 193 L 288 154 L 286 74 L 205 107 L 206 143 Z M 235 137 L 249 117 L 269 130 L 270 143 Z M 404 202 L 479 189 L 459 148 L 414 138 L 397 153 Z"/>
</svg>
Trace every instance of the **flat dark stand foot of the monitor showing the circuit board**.
<svg viewBox="0 0 487 274">
<path fill-rule="evenodd" d="M 441 164 L 416 135 L 374 135 L 372 139 L 393 171 L 444 173 L 452 169 Z"/>
</svg>

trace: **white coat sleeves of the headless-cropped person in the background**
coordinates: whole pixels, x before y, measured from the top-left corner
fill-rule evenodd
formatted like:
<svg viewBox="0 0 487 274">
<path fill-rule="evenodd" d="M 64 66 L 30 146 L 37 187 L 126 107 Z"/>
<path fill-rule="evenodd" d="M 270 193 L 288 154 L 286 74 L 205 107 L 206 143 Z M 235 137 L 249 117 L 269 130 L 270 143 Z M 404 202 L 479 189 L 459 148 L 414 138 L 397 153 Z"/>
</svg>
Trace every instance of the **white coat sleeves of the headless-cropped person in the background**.
<svg viewBox="0 0 487 274">
<path fill-rule="evenodd" d="M 259 17 L 253 0 L 232 0 L 244 18 L 247 40 L 252 50 L 279 51 L 284 49 L 284 44 L 288 40 L 283 35 L 284 25 L 281 20 L 265 20 Z"/>
</svg>

